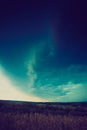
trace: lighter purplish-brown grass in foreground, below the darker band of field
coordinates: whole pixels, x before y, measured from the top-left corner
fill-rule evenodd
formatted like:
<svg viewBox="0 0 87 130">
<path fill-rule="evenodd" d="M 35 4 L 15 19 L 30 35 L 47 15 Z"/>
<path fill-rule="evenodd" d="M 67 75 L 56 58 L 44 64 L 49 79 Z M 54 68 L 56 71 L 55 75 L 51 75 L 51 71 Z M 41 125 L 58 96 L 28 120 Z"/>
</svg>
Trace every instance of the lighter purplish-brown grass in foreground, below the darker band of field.
<svg viewBox="0 0 87 130">
<path fill-rule="evenodd" d="M 0 113 L 0 130 L 87 130 L 87 116 Z"/>
</svg>

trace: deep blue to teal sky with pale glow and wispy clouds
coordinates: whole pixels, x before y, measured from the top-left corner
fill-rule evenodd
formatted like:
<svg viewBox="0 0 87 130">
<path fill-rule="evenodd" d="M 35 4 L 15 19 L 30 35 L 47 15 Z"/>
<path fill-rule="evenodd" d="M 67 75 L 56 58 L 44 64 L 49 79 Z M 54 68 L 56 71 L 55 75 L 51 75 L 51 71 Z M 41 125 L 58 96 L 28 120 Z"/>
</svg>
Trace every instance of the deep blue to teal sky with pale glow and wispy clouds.
<svg viewBox="0 0 87 130">
<path fill-rule="evenodd" d="M 85 1 L 2 1 L 0 100 L 87 101 Z"/>
</svg>

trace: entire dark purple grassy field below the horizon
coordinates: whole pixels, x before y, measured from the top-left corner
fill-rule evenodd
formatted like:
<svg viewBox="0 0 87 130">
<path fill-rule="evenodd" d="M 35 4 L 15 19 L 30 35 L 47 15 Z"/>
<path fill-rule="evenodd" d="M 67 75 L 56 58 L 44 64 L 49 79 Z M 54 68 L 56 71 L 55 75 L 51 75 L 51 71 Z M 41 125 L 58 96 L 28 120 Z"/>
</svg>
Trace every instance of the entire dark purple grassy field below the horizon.
<svg viewBox="0 0 87 130">
<path fill-rule="evenodd" d="M 0 130 L 87 130 L 87 103 L 0 101 Z"/>
</svg>

